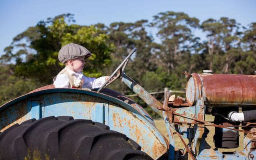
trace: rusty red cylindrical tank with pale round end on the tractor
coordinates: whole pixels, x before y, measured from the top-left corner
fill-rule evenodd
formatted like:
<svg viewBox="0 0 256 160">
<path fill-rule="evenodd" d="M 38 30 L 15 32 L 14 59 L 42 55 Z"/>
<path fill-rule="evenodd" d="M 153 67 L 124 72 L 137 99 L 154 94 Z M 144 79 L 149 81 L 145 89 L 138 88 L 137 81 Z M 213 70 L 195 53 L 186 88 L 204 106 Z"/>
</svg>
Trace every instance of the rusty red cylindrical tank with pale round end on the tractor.
<svg viewBox="0 0 256 160">
<path fill-rule="evenodd" d="M 256 107 L 256 75 L 190 74 L 186 99 L 195 105 L 201 96 L 207 106 Z"/>
</svg>

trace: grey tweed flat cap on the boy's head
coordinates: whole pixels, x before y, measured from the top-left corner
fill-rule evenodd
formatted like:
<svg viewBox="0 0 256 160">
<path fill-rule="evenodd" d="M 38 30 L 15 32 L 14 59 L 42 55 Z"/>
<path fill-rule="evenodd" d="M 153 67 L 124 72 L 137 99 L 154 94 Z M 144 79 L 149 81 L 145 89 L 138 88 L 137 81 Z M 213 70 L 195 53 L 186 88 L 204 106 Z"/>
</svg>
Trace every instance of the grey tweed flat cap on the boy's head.
<svg viewBox="0 0 256 160">
<path fill-rule="evenodd" d="M 67 60 L 72 60 L 81 56 L 85 56 L 84 59 L 86 59 L 92 56 L 92 54 L 85 47 L 74 43 L 66 44 L 65 46 L 63 46 L 58 54 L 58 58 L 63 64 Z"/>
</svg>

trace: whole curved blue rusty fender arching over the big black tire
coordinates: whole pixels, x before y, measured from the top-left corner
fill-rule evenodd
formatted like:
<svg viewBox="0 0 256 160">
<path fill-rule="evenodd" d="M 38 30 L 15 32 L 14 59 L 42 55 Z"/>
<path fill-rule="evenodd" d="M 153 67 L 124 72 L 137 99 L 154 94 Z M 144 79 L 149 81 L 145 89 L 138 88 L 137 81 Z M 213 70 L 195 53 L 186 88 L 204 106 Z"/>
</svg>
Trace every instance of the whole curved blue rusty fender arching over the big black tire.
<svg viewBox="0 0 256 160">
<path fill-rule="evenodd" d="M 102 93 L 54 88 L 31 92 L 1 106 L 0 125 L 3 131 L 31 118 L 73 116 L 74 119 L 91 119 L 126 134 L 156 159 L 166 153 L 168 143 L 141 109 Z"/>
</svg>

